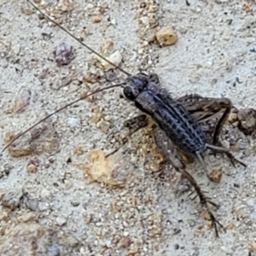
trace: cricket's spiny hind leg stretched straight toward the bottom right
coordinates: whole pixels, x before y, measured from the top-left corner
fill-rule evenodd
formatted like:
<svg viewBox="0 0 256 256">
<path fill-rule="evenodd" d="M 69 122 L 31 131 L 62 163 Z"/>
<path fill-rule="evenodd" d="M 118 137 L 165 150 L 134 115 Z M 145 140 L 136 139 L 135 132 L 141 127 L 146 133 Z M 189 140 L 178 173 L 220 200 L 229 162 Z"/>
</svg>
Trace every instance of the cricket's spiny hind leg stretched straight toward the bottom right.
<svg viewBox="0 0 256 256">
<path fill-rule="evenodd" d="M 182 176 L 187 178 L 191 186 L 195 189 L 195 193 L 200 199 L 201 206 L 207 211 L 212 220 L 212 225 L 214 227 L 216 236 L 218 236 L 217 225 L 219 225 L 219 227 L 225 231 L 224 226 L 218 222 L 218 219 L 215 218 L 208 207 L 208 204 L 211 204 L 213 207 L 217 208 L 218 205 L 210 201 L 209 198 L 203 194 L 200 186 L 198 183 L 196 183 L 195 178 L 185 170 L 181 157 L 179 154 L 177 154 L 177 148 L 174 146 L 170 138 L 166 136 L 166 133 L 158 126 L 154 127 L 154 141 L 157 147 L 160 149 L 161 154 L 163 154 L 163 157 L 166 158 L 166 160 L 177 170 L 177 172 L 181 172 Z"/>
</svg>

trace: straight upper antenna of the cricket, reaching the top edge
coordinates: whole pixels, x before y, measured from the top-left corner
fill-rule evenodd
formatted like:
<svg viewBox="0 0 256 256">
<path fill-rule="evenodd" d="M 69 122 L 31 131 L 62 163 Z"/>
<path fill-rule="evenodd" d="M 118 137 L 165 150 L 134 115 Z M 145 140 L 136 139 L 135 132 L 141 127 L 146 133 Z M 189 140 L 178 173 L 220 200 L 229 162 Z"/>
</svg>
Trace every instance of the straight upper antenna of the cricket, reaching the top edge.
<svg viewBox="0 0 256 256">
<path fill-rule="evenodd" d="M 66 32 L 70 37 L 72 37 L 73 39 L 75 39 L 77 42 L 79 42 L 79 44 L 82 44 L 85 48 L 89 49 L 92 53 L 94 53 L 95 55 L 97 55 L 98 57 L 102 58 L 103 61 L 107 61 L 110 65 L 112 65 L 113 67 L 119 69 L 119 71 L 121 71 L 122 73 L 125 73 L 125 75 L 127 76 L 131 76 L 130 73 L 126 72 L 123 68 L 118 67 L 116 65 L 114 65 L 111 61 L 108 61 L 107 58 L 103 57 L 102 55 L 100 55 L 99 53 L 96 52 L 96 50 L 90 48 L 89 45 L 84 44 L 79 38 L 76 38 L 71 32 L 69 32 L 66 28 L 64 28 L 63 26 L 61 26 L 60 24 L 58 24 L 55 20 L 51 19 L 48 15 L 45 15 L 44 12 L 38 8 L 38 6 L 34 3 L 32 3 L 31 0 L 26 0 L 28 3 L 30 3 L 32 5 L 32 7 L 34 9 L 37 9 L 38 12 L 44 16 L 44 18 L 48 19 L 50 22 L 52 22 L 53 24 L 55 24 L 55 26 L 58 26 L 59 28 L 61 28 L 62 31 Z"/>
</svg>

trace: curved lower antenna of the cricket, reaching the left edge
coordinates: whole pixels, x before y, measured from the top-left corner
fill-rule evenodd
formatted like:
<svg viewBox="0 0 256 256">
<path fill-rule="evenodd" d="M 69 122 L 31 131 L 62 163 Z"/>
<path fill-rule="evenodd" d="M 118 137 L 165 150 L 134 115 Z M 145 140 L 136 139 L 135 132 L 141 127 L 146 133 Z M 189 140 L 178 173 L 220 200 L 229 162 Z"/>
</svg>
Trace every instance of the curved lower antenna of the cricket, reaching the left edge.
<svg viewBox="0 0 256 256">
<path fill-rule="evenodd" d="M 49 113 L 49 115 L 47 115 L 46 117 L 44 117 L 44 119 L 39 120 L 36 124 L 30 126 L 30 127 L 27 128 L 25 131 L 22 131 L 20 134 L 18 134 L 16 137 L 14 137 L 14 138 L 0 151 L 0 156 L 3 154 L 3 151 L 5 151 L 7 148 L 9 148 L 9 146 L 10 146 L 12 143 L 14 143 L 18 138 L 20 138 L 21 136 L 25 135 L 26 132 L 31 131 L 31 130 L 32 130 L 34 127 L 36 127 L 37 125 L 43 123 L 46 119 L 49 119 L 49 118 L 50 118 L 51 116 L 53 116 L 55 113 L 59 113 L 59 112 L 61 112 L 61 110 L 65 109 L 65 108 L 68 108 L 68 107 L 72 106 L 73 104 L 75 104 L 75 103 L 77 103 L 77 102 L 80 102 L 80 101 L 82 101 L 82 100 L 88 98 L 89 96 L 95 95 L 95 94 L 98 93 L 98 92 L 101 92 L 101 91 L 103 91 L 103 90 L 112 89 L 112 88 L 115 88 L 115 87 L 119 87 L 119 86 L 121 86 L 121 85 L 123 85 L 123 84 L 124 84 L 124 83 L 122 83 L 122 84 L 112 84 L 112 85 L 106 86 L 106 87 L 104 87 L 104 88 L 96 89 L 96 90 L 94 90 L 93 92 L 87 94 L 86 96 L 82 96 L 82 97 L 80 97 L 79 99 L 77 99 L 77 100 L 75 100 L 75 101 L 73 101 L 73 102 L 70 102 L 70 103 L 68 103 L 67 105 L 65 105 L 65 106 L 63 106 L 63 107 L 61 107 L 61 108 L 55 110 L 55 112 Z"/>
</svg>

